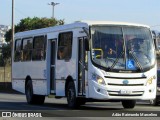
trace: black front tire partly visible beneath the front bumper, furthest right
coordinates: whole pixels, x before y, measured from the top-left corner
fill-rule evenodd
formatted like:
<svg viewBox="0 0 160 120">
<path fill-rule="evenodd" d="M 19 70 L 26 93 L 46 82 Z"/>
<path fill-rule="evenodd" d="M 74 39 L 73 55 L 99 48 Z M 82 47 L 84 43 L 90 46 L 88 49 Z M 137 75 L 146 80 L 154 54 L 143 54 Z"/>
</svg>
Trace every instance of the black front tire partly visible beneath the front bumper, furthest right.
<svg viewBox="0 0 160 120">
<path fill-rule="evenodd" d="M 123 108 L 132 109 L 135 107 L 136 101 L 135 100 L 123 100 L 122 105 L 123 105 Z"/>
</svg>

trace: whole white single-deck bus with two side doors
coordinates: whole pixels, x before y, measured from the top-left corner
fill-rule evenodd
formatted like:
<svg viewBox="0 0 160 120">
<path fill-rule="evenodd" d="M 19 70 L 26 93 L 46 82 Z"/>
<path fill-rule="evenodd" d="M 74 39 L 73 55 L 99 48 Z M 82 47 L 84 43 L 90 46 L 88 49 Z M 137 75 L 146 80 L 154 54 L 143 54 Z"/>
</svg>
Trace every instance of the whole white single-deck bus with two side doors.
<svg viewBox="0 0 160 120">
<path fill-rule="evenodd" d="M 12 87 L 29 104 L 45 96 L 67 97 L 68 106 L 88 101 L 136 100 L 156 96 L 155 44 L 146 25 L 122 22 L 73 24 L 15 34 Z"/>
</svg>

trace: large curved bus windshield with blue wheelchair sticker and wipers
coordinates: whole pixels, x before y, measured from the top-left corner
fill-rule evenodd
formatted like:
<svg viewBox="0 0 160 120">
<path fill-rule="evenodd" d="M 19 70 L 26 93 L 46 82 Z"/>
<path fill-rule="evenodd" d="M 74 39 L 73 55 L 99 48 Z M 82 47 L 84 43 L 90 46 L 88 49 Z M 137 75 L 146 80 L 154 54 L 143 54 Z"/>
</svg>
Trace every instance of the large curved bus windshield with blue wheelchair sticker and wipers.
<svg viewBox="0 0 160 120">
<path fill-rule="evenodd" d="M 92 26 L 92 61 L 109 70 L 143 71 L 155 63 L 151 32 L 146 27 Z"/>
</svg>

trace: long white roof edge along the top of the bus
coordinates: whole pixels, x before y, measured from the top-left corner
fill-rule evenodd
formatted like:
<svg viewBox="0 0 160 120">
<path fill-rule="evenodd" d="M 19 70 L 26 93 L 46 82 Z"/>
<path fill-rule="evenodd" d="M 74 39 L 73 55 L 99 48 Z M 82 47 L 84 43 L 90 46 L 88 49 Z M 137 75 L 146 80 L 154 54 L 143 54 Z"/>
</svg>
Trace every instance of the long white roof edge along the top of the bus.
<svg viewBox="0 0 160 120">
<path fill-rule="evenodd" d="M 74 28 L 82 28 L 82 27 L 88 27 L 88 26 L 94 26 L 94 25 L 126 25 L 126 26 L 139 26 L 139 27 L 147 27 L 147 25 L 142 24 L 135 24 L 135 23 L 126 23 L 126 22 L 112 22 L 112 21 L 77 21 L 71 24 L 65 24 L 65 25 L 58 25 L 58 26 L 52 26 L 42 29 L 35 29 L 35 30 L 29 30 L 24 32 L 18 32 L 15 34 L 15 38 L 21 38 L 21 37 L 27 37 L 27 36 L 34 36 L 34 35 L 40 35 L 45 34 L 49 32 L 61 32 L 67 29 L 74 29 Z"/>
</svg>

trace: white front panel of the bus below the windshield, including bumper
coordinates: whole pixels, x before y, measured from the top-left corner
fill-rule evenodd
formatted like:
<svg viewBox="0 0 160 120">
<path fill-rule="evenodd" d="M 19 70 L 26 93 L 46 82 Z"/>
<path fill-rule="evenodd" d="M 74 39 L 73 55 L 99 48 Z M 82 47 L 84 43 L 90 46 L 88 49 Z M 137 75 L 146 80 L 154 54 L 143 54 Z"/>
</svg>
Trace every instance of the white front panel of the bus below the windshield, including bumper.
<svg viewBox="0 0 160 120">
<path fill-rule="evenodd" d="M 105 72 L 89 64 L 89 98 L 103 100 L 154 99 L 156 95 L 156 78 L 153 80 L 152 85 L 146 86 L 146 84 L 149 78 L 157 76 L 156 69 L 154 67 L 145 73 L 120 73 L 121 75 L 119 75 L 119 73 Z M 107 85 L 99 85 L 93 81 L 93 73 L 103 77 Z M 144 76 L 146 78 L 143 78 Z M 124 80 L 129 81 L 128 85 L 123 84 Z M 121 92 L 129 93 L 123 94 Z"/>
</svg>

